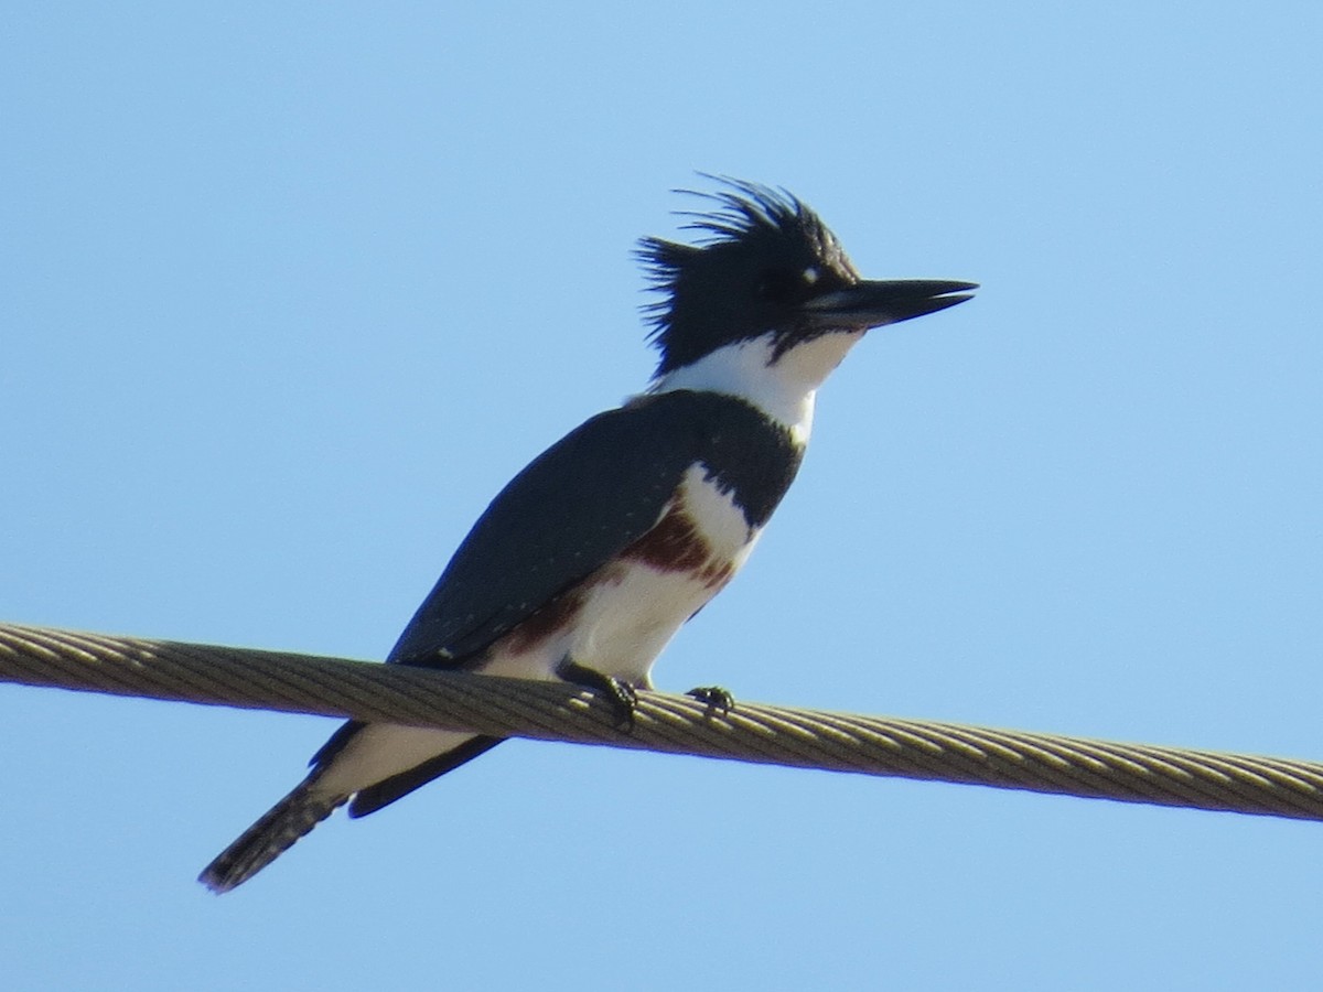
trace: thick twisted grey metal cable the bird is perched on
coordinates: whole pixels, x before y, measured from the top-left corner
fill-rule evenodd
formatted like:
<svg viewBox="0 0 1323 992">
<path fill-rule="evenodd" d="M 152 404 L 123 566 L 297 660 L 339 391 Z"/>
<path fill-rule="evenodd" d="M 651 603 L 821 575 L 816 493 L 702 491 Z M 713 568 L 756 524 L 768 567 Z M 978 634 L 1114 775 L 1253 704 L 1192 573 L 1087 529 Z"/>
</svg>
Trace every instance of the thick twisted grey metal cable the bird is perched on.
<svg viewBox="0 0 1323 992">
<path fill-rule="evenodd" d="M 0 624 L 0 681 L 865 775 L 1323 820 L 1323 765 Z"/>
</svg>

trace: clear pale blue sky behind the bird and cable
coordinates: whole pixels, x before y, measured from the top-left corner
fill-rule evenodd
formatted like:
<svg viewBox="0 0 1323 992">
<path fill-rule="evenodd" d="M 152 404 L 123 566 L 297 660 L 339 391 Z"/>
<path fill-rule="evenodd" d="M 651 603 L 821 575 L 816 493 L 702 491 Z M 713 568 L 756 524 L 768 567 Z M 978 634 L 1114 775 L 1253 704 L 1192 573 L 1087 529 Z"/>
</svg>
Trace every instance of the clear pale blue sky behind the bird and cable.
<svg viewBox="0 0 1323 992">
<path fill-rule="evenodd" d="M 1316 4 L 11 4 L 0 616 L 380 657 L 652 357 L 695 169 L 983 284 L 663 688 L 1323 757 Z M 1316 980 L 1323 825 L 512 743 L 237 893 L 329 721 L 0 686 L 12 989 Z"/>
</svg>

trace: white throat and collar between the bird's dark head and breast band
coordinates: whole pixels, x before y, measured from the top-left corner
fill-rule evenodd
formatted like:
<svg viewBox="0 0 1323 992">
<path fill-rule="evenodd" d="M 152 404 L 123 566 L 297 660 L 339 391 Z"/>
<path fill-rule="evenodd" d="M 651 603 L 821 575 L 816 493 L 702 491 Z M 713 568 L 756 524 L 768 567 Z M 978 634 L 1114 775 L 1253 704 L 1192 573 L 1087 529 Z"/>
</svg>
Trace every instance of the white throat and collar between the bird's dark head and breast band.
<svg viewBox="0 0 1323 992">
<path fill-rule="evenodd" d="M 818 386 L 840 365 L 863 331 L 836 331 L 796 345 L 773 358 L 773 335 L 728 344 L 689 365 L 672 369 L 650 393 L 693 389 L 740 397 L 790 429 L 807 443 L 814 425 Z"/>
</svg>

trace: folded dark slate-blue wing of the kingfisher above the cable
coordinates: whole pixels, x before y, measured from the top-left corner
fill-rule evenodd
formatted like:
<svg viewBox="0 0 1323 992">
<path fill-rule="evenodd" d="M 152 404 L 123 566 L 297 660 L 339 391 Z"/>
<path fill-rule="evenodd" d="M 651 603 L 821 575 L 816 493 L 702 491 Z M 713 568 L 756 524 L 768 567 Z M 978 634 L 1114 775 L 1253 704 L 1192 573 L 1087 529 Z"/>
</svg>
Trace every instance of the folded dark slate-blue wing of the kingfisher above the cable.
<svg viewBox="0 0 1323 992">
<path fill-rule="evenodd" d="M 720 423 L 695 397 L 643 397 L 544 451 L 479 517 L 388 660 L 463 667 L 647 533 Z"/>
</svg>

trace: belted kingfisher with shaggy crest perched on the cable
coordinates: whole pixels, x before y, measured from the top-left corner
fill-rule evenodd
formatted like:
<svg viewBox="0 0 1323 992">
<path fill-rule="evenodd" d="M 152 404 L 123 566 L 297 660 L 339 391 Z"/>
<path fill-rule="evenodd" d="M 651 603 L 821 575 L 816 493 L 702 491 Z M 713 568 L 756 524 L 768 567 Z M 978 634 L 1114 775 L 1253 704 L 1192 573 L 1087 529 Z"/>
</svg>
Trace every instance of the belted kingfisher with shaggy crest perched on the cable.
<svg viewBox="0 0 1323 992">
<path fill-rule="evenodd" d="M 869 328 L 978 288 L 864 280 L 794 196 L 718 181 L 696 193 L 708 212 L 684 212 L 697 243 L 640 242 L 660 292 L 652 382 L 501 489 L 389 664 L 568 680 L 605 693 L 627 726 L 658 655 L 745 563 L 794 480 L 823 380 Z M 695 694 L 730 705 L 721 689 Z M 497 743 L 349 721 L 200 881 L 228 891 L 337 807 L 365 816 Z"/>
</svg>

